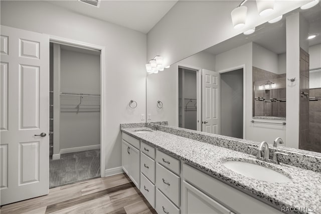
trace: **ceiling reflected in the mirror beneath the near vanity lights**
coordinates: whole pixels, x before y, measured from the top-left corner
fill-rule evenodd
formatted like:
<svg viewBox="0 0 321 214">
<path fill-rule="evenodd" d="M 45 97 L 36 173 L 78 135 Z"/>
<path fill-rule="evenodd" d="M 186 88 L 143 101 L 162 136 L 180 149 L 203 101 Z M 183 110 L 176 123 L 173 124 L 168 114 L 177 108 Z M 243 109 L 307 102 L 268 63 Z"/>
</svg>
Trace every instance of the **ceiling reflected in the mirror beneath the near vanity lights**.
<svg viewBox="0 0 321 214">
<path fill-rule="evenodd" d="M 317 37 L 308 41 L 309 46 L 321 44 L 321 3 L 319 3 L 317 6 L 306 11 L 298 9 L 290 12 L 284 15 L 282 20 L 277 23 L 264 23 L 256 27 L 255 32 L 251 35 L 237 35 L 204 51 L 217 55 L 249 42 L 254 42 L 276 54 L 283 54 L 286 52 L 285 17 L 297 11 L 300 11 L 300 14 L 309 23 L 309 34 L 317 34 Z"/>
</svg>

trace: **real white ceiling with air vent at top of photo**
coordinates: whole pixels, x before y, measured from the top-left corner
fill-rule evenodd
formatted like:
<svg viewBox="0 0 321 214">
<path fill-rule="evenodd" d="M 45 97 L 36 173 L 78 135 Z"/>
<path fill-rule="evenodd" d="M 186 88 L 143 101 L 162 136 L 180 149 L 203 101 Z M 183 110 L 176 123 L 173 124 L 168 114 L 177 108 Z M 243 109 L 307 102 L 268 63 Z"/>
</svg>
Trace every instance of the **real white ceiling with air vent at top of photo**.
<svg viewBox="0 0 321 214">
<path fill-rule="evenodd" d="M 106 1 L 100 7 L 78 0 L 47 1 L 70 11 L 147 34 L 177 1 Z"/>
</svg>

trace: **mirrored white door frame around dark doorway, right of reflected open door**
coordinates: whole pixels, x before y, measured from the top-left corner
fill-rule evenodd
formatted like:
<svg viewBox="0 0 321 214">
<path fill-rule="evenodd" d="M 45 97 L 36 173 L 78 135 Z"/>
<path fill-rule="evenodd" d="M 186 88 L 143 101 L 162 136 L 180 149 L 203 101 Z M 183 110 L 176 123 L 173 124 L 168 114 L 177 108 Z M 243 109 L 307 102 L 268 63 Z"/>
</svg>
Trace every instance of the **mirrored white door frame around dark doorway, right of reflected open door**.
<svg viewBox="0 0 321 214">
<path fill-rule="evenodd" d="M 231 68 L 227 68 L 227 69 L 223 69 L 223 70 L 218 71 L 219 82 L 220 82 L 220 88 L 221 88 L 221 74 L 226 73 L 226 72 L 230 72 L 230 71 L 235 71 L 238 69 L 243 69 L 243 139 L 246 139 L 246 65 L 245 64 L 238 65 L 238 66 L 234 66 Z M 221 92 L 219 94 L 219 101 L 220 101 L 219 114 L 221 115 Z M 219 118 L 219 124 L 221 126 L 221 117 Z M 219 133 L 219 134 L 221 134 L 221 133 Z"/>
</svg>

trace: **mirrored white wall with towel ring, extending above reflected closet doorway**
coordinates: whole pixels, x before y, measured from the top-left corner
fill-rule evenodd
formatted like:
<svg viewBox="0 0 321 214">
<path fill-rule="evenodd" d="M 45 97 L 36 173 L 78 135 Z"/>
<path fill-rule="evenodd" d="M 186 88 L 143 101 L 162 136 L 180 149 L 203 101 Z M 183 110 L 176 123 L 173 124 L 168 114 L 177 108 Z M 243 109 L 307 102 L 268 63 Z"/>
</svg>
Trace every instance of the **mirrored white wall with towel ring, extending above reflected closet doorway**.
<svg viewBox="0 0 321 214">
<path fill-rule="evenodd" d="M 215 69 L 215 56 L 206 52 L 200 52 L 179 62 L 180 65 Z M 146 77 L 146 109 L 147 116 L 151 114 L 150 121 L 169 121 L 171 126 L 178 124 L 178 64 L 173 64 L 158 74 Z M 156 103 L 161 100 L 164 103 L 162 109 L 157 108 Z"/>
</svg>

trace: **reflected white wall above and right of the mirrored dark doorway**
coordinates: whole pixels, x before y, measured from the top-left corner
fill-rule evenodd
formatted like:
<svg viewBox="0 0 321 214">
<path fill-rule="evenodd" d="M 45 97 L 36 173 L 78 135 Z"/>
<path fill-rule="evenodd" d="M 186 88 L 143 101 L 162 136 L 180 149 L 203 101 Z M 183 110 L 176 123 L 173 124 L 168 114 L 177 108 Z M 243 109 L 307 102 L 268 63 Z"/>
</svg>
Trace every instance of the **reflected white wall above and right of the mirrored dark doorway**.
<svg viewBox="0 0 321 214">
<path fill-rule="evenodd" d="M 229 50 L 222 54 L 215 56 L 215 68 L 216 71 L 241 67 L 245 65 L 244 75 L 246 78 L 245 83 L 245 135 L 243 138 L 254 141 L 266 141 L 272 143 L 276 137 L 281 137 L 284 142 L 285 139 L 285 126 L 273 125 L 273 124 L 258 124 L 251 123 L 252 120 L 252 43 L 245 44 L 235 49 Z M 231 60 L 233 59 L 233 60 Z M 274 120 L 260 120 L 256 121 L 275 122 Z"/>
</svg>

